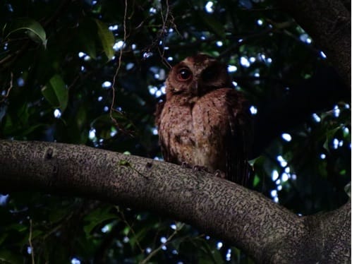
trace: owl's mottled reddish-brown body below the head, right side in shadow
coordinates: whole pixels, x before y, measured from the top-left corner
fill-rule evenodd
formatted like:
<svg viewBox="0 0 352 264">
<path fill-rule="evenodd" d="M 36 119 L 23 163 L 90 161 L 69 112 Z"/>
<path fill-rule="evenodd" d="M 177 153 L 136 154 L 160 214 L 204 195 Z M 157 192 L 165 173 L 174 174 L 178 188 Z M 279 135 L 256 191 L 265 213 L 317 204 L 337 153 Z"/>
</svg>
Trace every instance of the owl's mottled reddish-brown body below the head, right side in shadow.
<svg viewBox="0 0 352 264">
<path fill-rule="evenodd" d="M 240 92 L 221 88 L 188 104 L 174 95 L 157 107 L 156 124 L 164 160 L 219 169 L 226 179 L 245 184 L 251 124 Z"/>
</svg>

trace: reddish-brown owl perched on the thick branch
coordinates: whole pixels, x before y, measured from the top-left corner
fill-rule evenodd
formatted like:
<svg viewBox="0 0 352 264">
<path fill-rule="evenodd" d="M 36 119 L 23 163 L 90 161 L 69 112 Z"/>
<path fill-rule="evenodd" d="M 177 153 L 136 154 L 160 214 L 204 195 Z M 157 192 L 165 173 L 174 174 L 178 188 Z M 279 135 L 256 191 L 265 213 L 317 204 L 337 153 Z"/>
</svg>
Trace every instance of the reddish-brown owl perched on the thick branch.
<svg viewBox="0 0 352 264">
<path fill-rule="evenodd" d="M 250 112 L 224 64 L 198 54 L 171 68 L 155 116 L 166 162 L 247 184 Z"/>
</svg>

